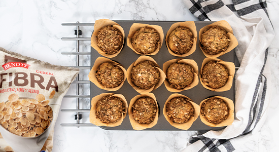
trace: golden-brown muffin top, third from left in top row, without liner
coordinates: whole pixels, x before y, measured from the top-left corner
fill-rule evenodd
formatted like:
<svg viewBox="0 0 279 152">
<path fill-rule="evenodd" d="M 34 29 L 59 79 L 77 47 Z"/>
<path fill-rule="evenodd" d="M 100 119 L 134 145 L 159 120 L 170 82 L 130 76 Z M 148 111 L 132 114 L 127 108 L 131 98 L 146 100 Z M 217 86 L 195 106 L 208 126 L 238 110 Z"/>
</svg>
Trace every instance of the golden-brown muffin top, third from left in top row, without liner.
<svg viewBox="0 0 279 152">
<path fill-rule="evenodd" d="M 188 53 L 193 46 L 194 36 L 187 27 L 177 27 L 168 37 L 168 47 L 176 54 Z"/>
</svg>

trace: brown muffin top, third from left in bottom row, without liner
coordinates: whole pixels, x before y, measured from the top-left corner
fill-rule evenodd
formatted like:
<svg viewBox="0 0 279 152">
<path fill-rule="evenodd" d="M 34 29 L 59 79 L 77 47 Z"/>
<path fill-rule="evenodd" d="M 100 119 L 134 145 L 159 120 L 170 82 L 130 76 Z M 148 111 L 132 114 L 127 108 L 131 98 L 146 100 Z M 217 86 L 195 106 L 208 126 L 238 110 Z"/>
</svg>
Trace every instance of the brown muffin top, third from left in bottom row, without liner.
<svg viewBox="0 0 279 152">
<path fill-rule="evenodd" d="M 167 103 L 166 112 L 172 122 L 183 124 L 194 116 L 194 107 L 186 98 L 176 97 Z"/>
</svg>

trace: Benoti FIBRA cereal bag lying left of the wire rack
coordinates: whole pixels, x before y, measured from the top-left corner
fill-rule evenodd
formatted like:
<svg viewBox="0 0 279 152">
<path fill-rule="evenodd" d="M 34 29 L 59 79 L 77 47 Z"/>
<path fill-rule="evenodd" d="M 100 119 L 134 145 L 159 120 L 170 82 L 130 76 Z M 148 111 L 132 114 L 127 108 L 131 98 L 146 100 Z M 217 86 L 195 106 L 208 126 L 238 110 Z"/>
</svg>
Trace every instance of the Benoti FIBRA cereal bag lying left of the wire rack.
<svg viewBox="0 0 279 152">
<path fill-rule="evenodd" d="M 78 68 L 0 48 L 0 151 L 50 152 L 63 96 Z"/>
</svg>

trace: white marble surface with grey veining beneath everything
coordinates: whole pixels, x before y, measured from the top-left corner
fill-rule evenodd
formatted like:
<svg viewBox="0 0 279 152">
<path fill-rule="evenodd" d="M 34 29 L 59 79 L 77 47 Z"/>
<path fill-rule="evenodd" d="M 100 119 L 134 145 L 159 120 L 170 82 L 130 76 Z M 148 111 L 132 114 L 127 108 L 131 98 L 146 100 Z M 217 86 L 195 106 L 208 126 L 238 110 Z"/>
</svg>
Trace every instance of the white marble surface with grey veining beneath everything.
<svg viewBox="0 0 279 152">
<path fill-rule="evenodd" d="M 248 137 L 249 142 L 236 151 L 278 151 L 279 133 L 279 2 L 268 0 L 268 13 L 276 37 L 270 47 L 273 98 L 269 116 L 260 132 Z M 123 1 L 0 1 L 0 47 L 57 65 L 76 65 L 75 55 L 61 52 L 75 51 L 75 41 L 61 41 L 61 37 L 75 37 L 72 26 L 62 22 L 94 23 L 95 20 L 197 20 L 182 1 L 123 0 Z M 90 37 L 92 27 L 81 27 L 82 37 Z M 81 51 L 90 51 L 90 42 L 81 42 Z M 83 56 L 81 65 L 90 65 Z M 88 80 L 89 70 L 81 71 L 81 80 Z M 72 85 L 68 94 L 75 94 Z M 81 86 L 82 94 L 89 94 L 89 85 Z M 81 108 L 89 108 L 89 99 L 81 100 Z M 61 109 L 76 108 L 76 100 L 64 98 Z M 55 126 L 53 151 L 180 151 L 195 131 L 106 131 L 98 127 L 61 127 L 61 123 L 75 123 L 74 113 L 59 113 Z M 89 123 L 88 113 L 82 123 Z"/>
</svg>

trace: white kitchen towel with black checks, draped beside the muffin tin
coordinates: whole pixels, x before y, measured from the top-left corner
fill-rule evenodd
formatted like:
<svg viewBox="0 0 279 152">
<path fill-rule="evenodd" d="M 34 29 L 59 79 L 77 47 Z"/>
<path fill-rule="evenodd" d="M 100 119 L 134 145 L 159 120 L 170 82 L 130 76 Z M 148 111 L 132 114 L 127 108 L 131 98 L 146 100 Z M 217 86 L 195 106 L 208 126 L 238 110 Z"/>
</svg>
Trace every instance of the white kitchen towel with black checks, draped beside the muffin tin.
<svg viewBox="0 0 279 152">
<path fill-rule="evenodd" d="M 202 21 L 226 20 L 239 45 L 240 68 L 235 75 L 235 120 L 220 131 L 193 136 L 182 151 L 233 151 L 253 138 L 266 119 L 271 96 L 268 46 L 274 30 L 264 0 L 184 0 Z"/>
</svg>

